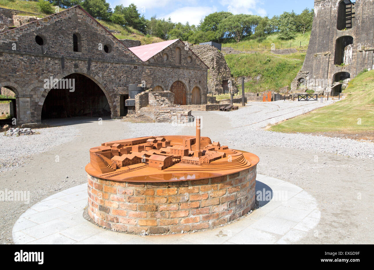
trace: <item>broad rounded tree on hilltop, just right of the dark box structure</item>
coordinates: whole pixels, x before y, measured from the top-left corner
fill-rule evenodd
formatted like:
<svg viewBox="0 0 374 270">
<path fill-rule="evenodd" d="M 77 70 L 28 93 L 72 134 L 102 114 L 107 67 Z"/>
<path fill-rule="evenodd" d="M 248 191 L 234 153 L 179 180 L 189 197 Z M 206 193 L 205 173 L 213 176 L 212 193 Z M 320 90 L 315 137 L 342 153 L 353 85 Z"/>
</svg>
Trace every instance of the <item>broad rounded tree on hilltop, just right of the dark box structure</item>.
<svg viewBox="0 0 374 270">
<path fill-rule="evenodd" d="M 223 33 L 225 36 L 233 37 L 235 41 L 239 42 L 244 35 L 249 36 L 252 34 L 253 23 L 255 23 L 255 20 L 252 15 L 230 15 L 219 24 L 216 37 Z"/>
</svg>

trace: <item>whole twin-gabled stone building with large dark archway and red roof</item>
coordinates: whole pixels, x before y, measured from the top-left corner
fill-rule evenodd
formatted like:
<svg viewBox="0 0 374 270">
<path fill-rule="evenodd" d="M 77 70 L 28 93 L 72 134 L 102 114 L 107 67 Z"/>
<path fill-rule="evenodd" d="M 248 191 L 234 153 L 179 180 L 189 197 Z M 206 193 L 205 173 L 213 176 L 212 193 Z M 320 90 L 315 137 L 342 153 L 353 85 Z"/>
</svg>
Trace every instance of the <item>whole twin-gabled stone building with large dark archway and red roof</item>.
<svg viewBox="0 0 374 270">
<path fill-rule="evenodd" d="M 15 93 L 18 124 L 123 116 L 129 84 L 178 93 L 186 105 L 195 91 L 206 103 L 208 66 L 181 40 L 161 43 L 142 58 L 147 47 L 129 49 L 75 6 L 0 33 L 0 87 Z"/>
</svg>

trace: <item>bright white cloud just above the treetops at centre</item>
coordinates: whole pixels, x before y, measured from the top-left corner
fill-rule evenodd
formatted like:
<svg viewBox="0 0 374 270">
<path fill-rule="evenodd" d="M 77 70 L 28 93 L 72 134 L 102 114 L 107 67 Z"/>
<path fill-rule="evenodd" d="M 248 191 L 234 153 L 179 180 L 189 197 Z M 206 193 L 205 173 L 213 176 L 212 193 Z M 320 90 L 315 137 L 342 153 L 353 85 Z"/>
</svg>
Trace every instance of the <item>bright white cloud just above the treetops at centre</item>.
<svg viewBox="0 0 374 270">
<path fill-rule="evenodd" d="M 174 10 L 173 12 L 161 16 L 166 20 L 170 17 L 172 22 L 181 22 L 185 24 L 188 22 L 190 25 L 198 25 L 200 20 L 206 15 L 216 12 L 216 7 L 181 7 L 180 9 Z"/>
</svg>

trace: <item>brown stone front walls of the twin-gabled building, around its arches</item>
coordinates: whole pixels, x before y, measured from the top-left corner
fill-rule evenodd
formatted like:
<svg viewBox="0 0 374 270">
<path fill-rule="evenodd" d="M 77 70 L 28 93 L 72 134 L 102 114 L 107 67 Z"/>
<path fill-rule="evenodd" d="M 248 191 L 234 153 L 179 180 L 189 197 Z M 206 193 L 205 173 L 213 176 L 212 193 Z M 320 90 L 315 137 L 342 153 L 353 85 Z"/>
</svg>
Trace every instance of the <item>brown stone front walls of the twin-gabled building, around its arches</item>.
<svg viewBox="0 0 374 270">
<path fill-rule="evenodd" d="M 73 51 L 74 33 L 80 35 L 80 52 Z M 36 43 L 36 35 L 43 38 L 42 46 Z M 16 50 L 12 50 L 13 43 Z M 108 53 L 99 50 L 99 44 L 109 46 Z M 178 41 L 165 49 L 169 62 L 161 61 L 157 55 L 142 62 L 77 6 L 0 34 L 0 87 L 12 89 L 17 96 L 18 124 L 40 122 L 50 90 L 44 88 L 45 79 L 52 76 L 60 80 L 73 73 L 85 75 L 100 87 L 108 100 L 111 118 L 119 117 L 120 95 L 128 94 L 128 85 L 143 80 L 147 87 L 161 85 L 163 90 L 169 90 L 177 80 L 183 81 L 187 104 L 191 103 L 193 87 L 198 86 L 202 103 L 206 103 L 208 68 L 196 58 L 188 62 L 193 53 L 184 49 L 182 63 L 175 65 L 172 59 L 176 46 L 184 44 Z"/>
</svg>

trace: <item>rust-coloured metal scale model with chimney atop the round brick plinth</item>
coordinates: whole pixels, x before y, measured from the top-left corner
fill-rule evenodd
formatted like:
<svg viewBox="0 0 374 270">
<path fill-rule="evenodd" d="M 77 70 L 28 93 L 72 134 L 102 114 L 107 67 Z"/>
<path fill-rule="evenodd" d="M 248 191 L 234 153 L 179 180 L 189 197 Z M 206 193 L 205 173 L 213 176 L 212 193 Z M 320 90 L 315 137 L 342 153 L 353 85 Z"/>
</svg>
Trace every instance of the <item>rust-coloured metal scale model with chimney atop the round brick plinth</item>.
<svg viewBox="0 0 374 270">
<path fill-rule="evenodd" d="M 89 150 L 86 172 L 102 179 L 169 182 L 213 178 L 255 166 L 258 156 L 229 149 L 208 137 L 150 136 L 102 143 Z"/>
</svg>

